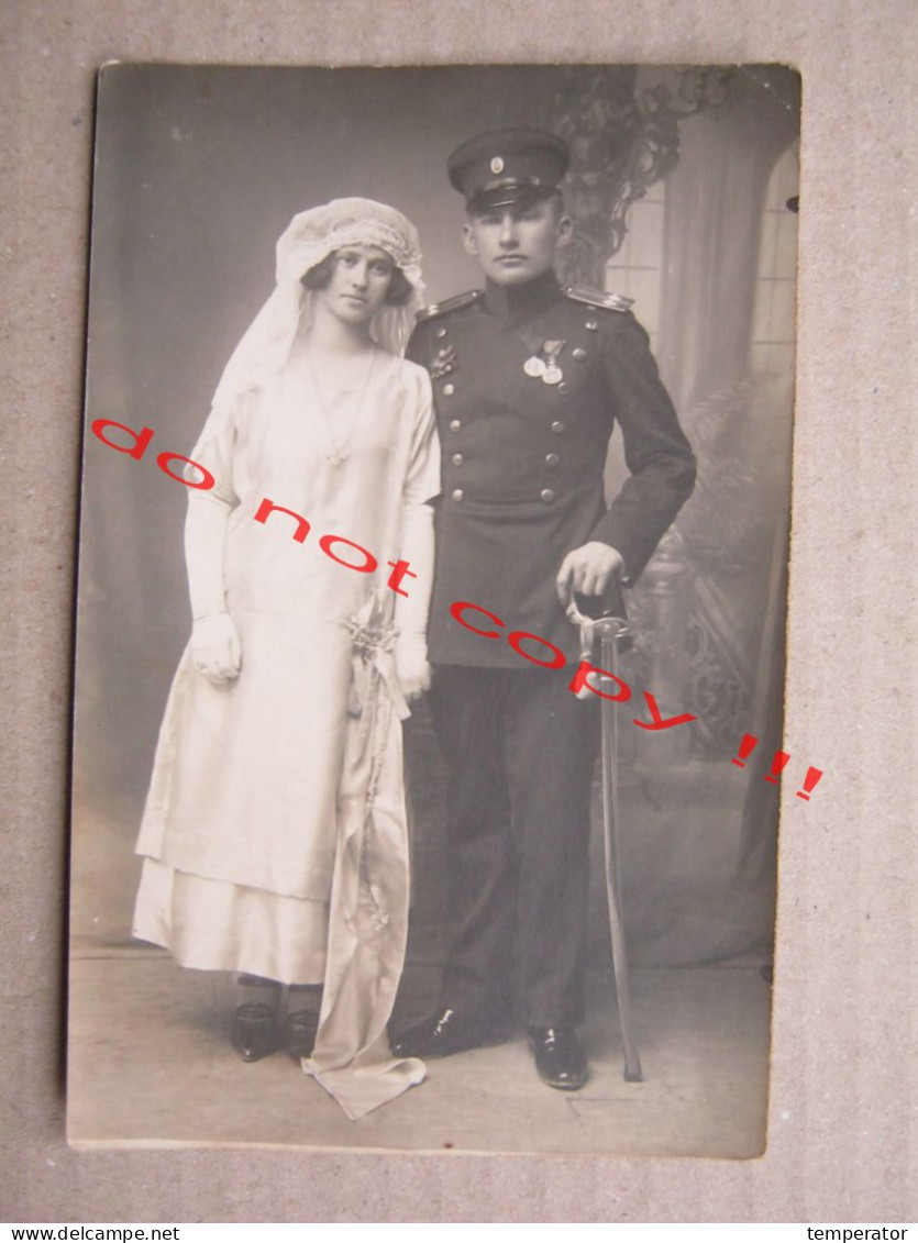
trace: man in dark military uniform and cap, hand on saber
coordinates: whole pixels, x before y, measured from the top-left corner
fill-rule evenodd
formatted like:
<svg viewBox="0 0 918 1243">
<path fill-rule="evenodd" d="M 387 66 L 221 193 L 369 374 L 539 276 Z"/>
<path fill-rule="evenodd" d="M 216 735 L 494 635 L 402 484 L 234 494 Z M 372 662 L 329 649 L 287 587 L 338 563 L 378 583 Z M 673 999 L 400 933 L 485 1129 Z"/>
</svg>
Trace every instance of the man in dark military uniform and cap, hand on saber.
<svg viewBox="0 0 918 1243">
<path fill-rule="evenodd" d="M 577 1089 L 598 704 L 568 690 L 570 592 L 632 585 L 692 492 L 694 460 L 628 301 L 562 287 L 572 222 L 552 134 L 503 131 L 449 159 L 483 290 L 420 312 L 443 445 L 429 653 L 449 766 L 449 952 L 440 1006 L 394 1042 L 433 1058 L 509 1035 Z M 603 495 L 618 421 L 631 477 Z M 509 640 L 509 641 L 508 641 Z"/>
</svg>

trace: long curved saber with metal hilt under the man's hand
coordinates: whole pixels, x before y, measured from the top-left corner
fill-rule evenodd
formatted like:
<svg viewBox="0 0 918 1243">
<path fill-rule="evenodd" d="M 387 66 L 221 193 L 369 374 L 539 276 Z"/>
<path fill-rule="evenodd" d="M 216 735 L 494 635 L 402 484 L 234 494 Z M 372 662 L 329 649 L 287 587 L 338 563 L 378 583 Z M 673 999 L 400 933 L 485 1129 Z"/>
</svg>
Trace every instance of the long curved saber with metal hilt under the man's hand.
<svg viewBox="0 0 918 1243">
<path fill-rule="evenodd" d="M 618 676 L 619 645 L 629 639 L 628 624 L 622 618 L 586 618 L 573 599 L 567 615 L 580 625 L 581 656 L 590 660 L 593 638 L 600 638 L 600 660 L 605 672 Z M 612 677 L 600 677 L 600 690 L 612 694 Z M 626 1083 L 642 1083 L 641 1055 L 634 1039 L 631 1011 L 631 986 L 628 958 L 624 948 L 624 920 L 622 914 L 622 878 L 618 866 L 618 715 L 614 700 L 602 700 L 602 844 L 606 859 L 606 899 L 608 925 L 612 937 L 612 970 L 616 981 L 618 1022 L 622 1029 Z"/>
</svg>

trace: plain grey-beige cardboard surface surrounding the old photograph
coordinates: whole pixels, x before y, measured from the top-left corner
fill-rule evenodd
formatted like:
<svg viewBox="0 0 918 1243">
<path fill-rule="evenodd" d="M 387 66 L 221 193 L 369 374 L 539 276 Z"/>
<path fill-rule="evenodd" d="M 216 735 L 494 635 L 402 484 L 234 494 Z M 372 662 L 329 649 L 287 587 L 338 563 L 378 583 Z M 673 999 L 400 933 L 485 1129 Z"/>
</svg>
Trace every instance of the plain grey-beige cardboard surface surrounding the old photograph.
<svg viewBox="0 0 918 1243">
<path fill-rule="evenodd" d="M 914 1218 L 912 0 L 5 0 L 0 17 L 0 1218 Z M 774 60 L 802 72 L 785 750 L 825 777 L 809 804 L 784 789 L 761 1160 L 67 1150 L 66 756 L 85 266 L 93 76 L 112 57 Z"/>
</svg>

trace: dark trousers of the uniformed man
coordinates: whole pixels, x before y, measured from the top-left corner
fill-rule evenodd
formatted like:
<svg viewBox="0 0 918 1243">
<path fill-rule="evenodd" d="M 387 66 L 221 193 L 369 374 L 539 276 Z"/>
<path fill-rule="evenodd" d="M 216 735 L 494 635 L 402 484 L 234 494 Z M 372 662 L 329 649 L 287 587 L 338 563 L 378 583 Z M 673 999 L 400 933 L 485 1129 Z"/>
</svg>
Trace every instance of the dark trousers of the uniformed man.
<svg viewBox="0 0 918 1243">
<path fill-rule="evenodd" d="M 532 1027 L 583 1017 L 590 793 L 598 705 L 573 669 L 438 665 L 432 709 L 449 768 L 449 956 L 442 999 Z M 514 958 L 515 953 L 515 958 Z"/>
</svg>

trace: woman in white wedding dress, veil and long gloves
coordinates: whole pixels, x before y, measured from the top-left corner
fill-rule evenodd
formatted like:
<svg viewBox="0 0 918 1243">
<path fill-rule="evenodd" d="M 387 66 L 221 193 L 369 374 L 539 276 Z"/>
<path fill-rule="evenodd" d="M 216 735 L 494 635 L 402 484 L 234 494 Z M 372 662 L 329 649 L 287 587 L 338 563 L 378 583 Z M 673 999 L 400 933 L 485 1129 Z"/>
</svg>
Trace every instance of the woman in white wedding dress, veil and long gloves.
<svg viewBox="0 0 918 1243">
<path fill-rule="evenodd" d="M 285 1048 L 355 1119 L 424 1074 L 386 1034 L 439 490 L 429 379 L 402 358 L 419 260 L 410 222 L 367 199 L 277 242 L 187 470 L 194 623 L 137 846 L 134 935 L 236 975 L 239 1055 Z"/>
</svg>

